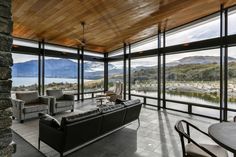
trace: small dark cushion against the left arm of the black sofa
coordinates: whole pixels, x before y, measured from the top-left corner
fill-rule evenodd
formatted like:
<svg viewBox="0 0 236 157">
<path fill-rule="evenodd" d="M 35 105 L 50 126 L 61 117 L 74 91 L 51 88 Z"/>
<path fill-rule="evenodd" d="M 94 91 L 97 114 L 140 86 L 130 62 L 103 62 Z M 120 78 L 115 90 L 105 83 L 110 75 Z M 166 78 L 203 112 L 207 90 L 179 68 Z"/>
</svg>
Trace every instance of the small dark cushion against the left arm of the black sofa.
<svg viewBox="0 0 236 157">
<path fill-rule="evenodd" d="M 60 123 L 58 120 L 46 113 L 39 113 L 40 121 L 43 122 L 46 125 L 49 125 L 53 128 L 59 129 Z"/>
</svg>

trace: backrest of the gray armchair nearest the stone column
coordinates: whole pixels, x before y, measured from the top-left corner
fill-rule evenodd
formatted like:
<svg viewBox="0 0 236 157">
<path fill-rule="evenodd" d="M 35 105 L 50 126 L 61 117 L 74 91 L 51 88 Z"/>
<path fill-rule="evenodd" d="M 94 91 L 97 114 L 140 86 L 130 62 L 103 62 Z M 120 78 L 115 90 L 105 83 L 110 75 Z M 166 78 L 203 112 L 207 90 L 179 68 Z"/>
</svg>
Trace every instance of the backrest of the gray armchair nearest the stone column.
<svg viewBox="0 0 236 157">
<path fill-rule="evenodd" d="M 23 100 L 25 104 L 37 103 L 39 102 L 39 95 L 38 92 L 16 93 L 16 99 Z"/>
</svg>

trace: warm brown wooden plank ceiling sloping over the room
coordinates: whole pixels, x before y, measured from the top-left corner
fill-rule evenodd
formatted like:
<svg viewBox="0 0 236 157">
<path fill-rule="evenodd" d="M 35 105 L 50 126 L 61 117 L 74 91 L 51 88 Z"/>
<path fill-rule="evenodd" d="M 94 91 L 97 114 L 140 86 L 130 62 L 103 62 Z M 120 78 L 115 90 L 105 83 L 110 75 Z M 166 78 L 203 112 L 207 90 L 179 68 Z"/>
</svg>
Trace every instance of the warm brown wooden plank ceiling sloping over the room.
<svg viewBox="0 0 236 157">
<path fill-rule="evenodd" d="M 13 0 L 13 36 L 109 52 L 236 4 L 236 0 Z"/>
</svg>

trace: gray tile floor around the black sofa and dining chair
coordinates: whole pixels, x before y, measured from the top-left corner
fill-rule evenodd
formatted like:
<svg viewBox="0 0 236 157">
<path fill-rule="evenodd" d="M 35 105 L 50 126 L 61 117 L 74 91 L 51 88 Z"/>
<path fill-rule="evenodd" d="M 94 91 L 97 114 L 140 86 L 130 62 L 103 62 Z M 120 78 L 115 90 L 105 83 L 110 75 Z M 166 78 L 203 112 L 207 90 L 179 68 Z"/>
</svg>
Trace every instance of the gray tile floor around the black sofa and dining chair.
<svg viewBox="0 0 236 157">
<path fill-rule="evenodd" d="M 74 113 L 65 112 L 56 115 L 57 119 L 85 112 L 94 108 L 93 100 L 86 100 L 84 103 L 77 103 Z M 93 143 L 69 156 L 80 157 L 181 157 L 181 146 L 179 137 L 174 130 L 178 120 L 185 119 L 199 126 L 207 132 L 209 125 L 217 123 L 215 120 L 191 116 L 172 111 L 156 111 L 154 108 L 143 107 L 140 115 L 141 126 L 137 130 L 137 121 L 129 126 Z M 25 121 L 20 124 L 16 121 L 12 126 L 18 134 L 37 148 L 38 119 Z M 199 136 L 193 132 L 192 136 L 201 143 L 212 143 L 210 139 Z M 41 151 L 48 157 L 58 157 L 59 153 L 41 144 Z"/>
</svg>

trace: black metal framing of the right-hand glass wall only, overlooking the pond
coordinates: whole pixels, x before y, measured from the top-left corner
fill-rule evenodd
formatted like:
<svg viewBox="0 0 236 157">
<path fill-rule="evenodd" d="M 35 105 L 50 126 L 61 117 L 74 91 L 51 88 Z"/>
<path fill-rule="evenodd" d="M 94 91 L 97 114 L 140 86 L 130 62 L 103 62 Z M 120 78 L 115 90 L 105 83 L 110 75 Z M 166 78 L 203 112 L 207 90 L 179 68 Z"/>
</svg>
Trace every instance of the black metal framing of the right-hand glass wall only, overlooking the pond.
<svg viewBox="0 0 236 157">
<path fill-rule="evenodd" d="M 232 7 L 230 7 L 232 8 Z M 145 105 L 147 106 L 152 106 L 152 107 L 156 107 L 158 110 L 160 108 L 163 109 L 168 109 L 168 110 L 173 110 L 173 111 L 178 111 L 178 112 L 184 112 L 184 113 L 188 113 L 188 114 L 193 114 L 193 115 L 198 115 L 198 116 L 202 116 L 202 117 L 207 117 L 207 118 L 211 118 L 211 119 L 216 119 L 216 120 L 220 120 L 220 121 L 227 121 L 227 112 L 228 111 L 233 111 L 235 112 L 236 110 L 234 109 L 229 109 L 228 105 L 227 105 L 227 86 L 228 86 L 228 46 L 234 46 L 236 45 L 236 35 L 230 35 L 228 36 L 228 8 L 224 8 L 223 5 L 221 6 L 221 11 L 220 12 L 216 12 L 210 16 L 204 17 L 201 20 L 205 20 L 206 18 L 209 19 L 209 17 L 216 17 L 218 16 L 220 13 L 220 28 L 221 28 L 221 36 L 217 37 L 217 38 L 213 38 L 213 39 L 207 39 L 207 40 L 201 40 L 201 41 L 195 41 L 195 42 L 191 42 L 191 43 L 187 43 L 187 44 L 180 44 L 180 45 L 174 45 L 174 46 L 169 46 L 166 47 L 166 32 L 163 32 L 163 47 L 159 47 L 157 49 L 151 49 L 151 50 L 146 50 L 146 51 L 141 51 L 141 52 L 135 52 L 135 53 L 131 53 L 128 56 L 128 59 L 134 59 L 134 58 L 144 58 L 144 57 L 151 57 L 151 56 L 155 56 L 156 54 L 158 55 L 158 63 L 160 62 L 161 58 L 160 56 L 162 56 L 163 59 L 163 66 L 162 66 L 162 70 L 163 70 L 163 77 L 162 77 L 162 83 L 163 83 L 163 98 L 160 97 L 160 95 L 157 95 L 157 98 L 154 97 L 148 97 L 148 96 L 143 96 L 143 95 L 135 95 L 135 94 L 131 94 L 130 93 L 130 89 L 128 91 L 129 96 L 136 96 L 136 97 L 143 97 L 144 100 L 143 102 L 145 103 Z M 199 20 L 196 20 L 197 22 L 199 22 Z M 194 21 L 194 23 L 196 23 L 196 21 Z M 187 24 L 189 25 L 189 24 Z M 181 26 L 182 27 L 182 26 Z M 178 27 L 177 29 L 181 28 Z M 172 32 L 171 31 L 167 31 L 167 33 Z M 158 34 L 158 36 L 160 35 L 160 33 Z M 159 38 L 158 38 L 159 39 Z M 145 40 L 145 39 L 144 39 Z M 160 45 L 159 43 L 160 40 L 158 40 L 158 45 Z M 175 101 L 175 100 L 168 100 L 165 98 L 165 63 L 166 63 L 166 55 L 169 54 L 177 54 L 177 53 L 186 53 L 186 52 L 193 52 L 193 51 L 200 51 L 200 50 L 209 50 L 209 49 L 216 49 L 219 48 L 221 49 L 221 61 L 220 61 L 220 107 L 212 107 L 210 105 L 203 105 L 203 104 L 196 104 L 196 103 L 188 103 L 188 102 L 183 102 L 183 101 Z M 123 60 L 125 61 L 127 58 L 124 58 L 124 55 L 117 55 L 117 56 L 113 56 L 113 57 L 109 57 L 108 61 L 109 62 L 113 62 L 113 61 L 120 61 Z M 160 65 L 158 64 L 158 67 L 160 68 Z M 129 67 L 130 70 L 131 67 Z M 158 68 L 158 69 L 159 69 Z M 160 71 L 158 70 L 158 76 L 160 76 Z M 130 77 L 130 76 L 129 76 Z M 158 93 L 160 91 L 160 83 L 161 80 L 158 77 Z M 147 104 L 147 99 L 155 99 L 158 101 L 157 105 L 151 105 L 151 104 Z M 163 105 L 160 106 L 160 100 L 162 100 Z M 175 103 L 180 103 L 180 104 L 184 104 L 184 105 L 188 105 L 188 111 L 180 111 L 180 110 L 176 110 L 176 109 L 171 109 L 166 107 L 166 102 L 175 102 Z M 211 108 L 211 109 L 216 109 L 220 111 L 220 117 L 211 117 L 211 116 L 207 116 L 207 115 L 201 115 L 198 113 L 193 113 L 193 106 L 197 106 L 197 107 L 202 107 L 202 108 Z"/>
</svg>

